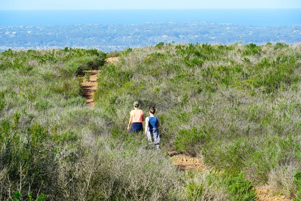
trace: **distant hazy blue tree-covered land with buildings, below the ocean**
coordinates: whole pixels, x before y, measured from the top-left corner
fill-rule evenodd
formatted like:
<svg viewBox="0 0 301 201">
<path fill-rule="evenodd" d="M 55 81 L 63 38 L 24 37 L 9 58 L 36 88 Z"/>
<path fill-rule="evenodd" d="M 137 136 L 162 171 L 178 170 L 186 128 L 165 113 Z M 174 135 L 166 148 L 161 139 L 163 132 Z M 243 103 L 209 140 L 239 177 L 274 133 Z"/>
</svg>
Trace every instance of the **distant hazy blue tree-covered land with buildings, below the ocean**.
<svg viewBox="0 0 301 201">
<path fill-rule="evenodd" d="M 68 47 L 103 51 L 145 47 L 159 42 L 243 44 L 301 42 L 301 25 L 244 26 L 212 22 L 142 23 L 136 25 L 65 25 L 0 27 L 0 51 Z"/>
</svg>

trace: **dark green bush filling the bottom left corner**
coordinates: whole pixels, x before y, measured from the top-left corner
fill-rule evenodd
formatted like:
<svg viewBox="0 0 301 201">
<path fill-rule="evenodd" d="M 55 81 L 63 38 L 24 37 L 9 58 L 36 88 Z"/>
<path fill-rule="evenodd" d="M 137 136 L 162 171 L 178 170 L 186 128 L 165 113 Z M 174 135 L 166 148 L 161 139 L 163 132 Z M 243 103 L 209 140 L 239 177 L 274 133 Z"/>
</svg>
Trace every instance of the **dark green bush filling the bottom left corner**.
<svg viewBox="0 0 301 201">
<path fill-rule="evenodd" d="M 32 200 L 36 197 L 44 200 L 45 195 L 39 193 L 49 194 L 56 185 L 54 147 L 48 143 L 48 132 L 42 126 L 34 124 L 24 136 L 24 131 L 16 132 L 17 122 L 13 125 L 2 122 L 0 198 L 9 197 L 10 191 L 16 191 L 13 200 Z"/>
</svg>

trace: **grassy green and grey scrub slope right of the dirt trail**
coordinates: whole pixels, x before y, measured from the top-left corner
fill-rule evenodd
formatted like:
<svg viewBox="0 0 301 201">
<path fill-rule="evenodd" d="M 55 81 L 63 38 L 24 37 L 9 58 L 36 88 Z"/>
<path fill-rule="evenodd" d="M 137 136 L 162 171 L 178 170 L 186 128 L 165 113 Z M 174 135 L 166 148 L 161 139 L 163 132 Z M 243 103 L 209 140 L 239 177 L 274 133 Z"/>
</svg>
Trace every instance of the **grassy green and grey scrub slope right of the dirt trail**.
<svg viewBox="0 0 301 201">
<path fill-rule="evenodd" d="M 128 49 L 98 78 L 96 108 L 122 130 L 134 100 L 156 106 L 167 150 L 294 196 L 301 46 L 164 44 Z M 276 173 L 287 168 L 287 177 Z M 286 173 L 285 173 L 286 174 Z"/>
</svg>

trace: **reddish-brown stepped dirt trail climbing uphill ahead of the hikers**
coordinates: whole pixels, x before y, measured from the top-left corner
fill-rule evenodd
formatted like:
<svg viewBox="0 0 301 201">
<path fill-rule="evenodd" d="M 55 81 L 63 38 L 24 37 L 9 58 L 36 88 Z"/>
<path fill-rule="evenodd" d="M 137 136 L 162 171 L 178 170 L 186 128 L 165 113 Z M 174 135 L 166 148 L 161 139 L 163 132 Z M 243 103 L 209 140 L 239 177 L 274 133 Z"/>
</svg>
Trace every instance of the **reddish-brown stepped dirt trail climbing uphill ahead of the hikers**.
<svg viewBox="0 0 301 201">
<path fill-rule="evenodd" d="M 109 57 L 106 59 L 106 62 L 113 62 L 118 60 L 118 57 Z M 83 90 L 83 97 L 87 100 L 87 106 L 90 109 L 94 108 L 94 91 L 97 89 L 97 75 L 100 70 L 86 70 L 84 73 L 89 73 L 89 80 L 86 80 L 85 77 L 81 77 L 83 79 L 82 82 L 82 90 Z"/>
</svg>

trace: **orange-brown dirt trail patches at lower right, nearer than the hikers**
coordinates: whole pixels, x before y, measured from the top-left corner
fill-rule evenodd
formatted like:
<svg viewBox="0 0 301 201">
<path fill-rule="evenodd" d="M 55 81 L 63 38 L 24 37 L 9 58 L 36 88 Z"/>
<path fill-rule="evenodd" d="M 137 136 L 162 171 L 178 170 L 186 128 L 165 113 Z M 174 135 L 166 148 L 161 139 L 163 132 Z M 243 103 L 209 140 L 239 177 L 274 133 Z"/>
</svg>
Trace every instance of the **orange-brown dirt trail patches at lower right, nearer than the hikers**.
<svg viewBox="0 0 301 201">
<path fill-rule="evenodd" d="M 173 164 L 178 166 L 180 170 L 193 170 L 209 171 L 210 168 L 205 165 L 202 158 L 195 158 L 179 154 L 177 151 L 168 152 L 168 155 L 173 159 Z M 269 190 L 268 186 L 257 186 L 257 201 L 292 201 L 290 198 L 286 198 L 284 195 L 273 195 L 273 192 Z"/>
</svg>

